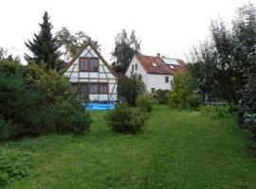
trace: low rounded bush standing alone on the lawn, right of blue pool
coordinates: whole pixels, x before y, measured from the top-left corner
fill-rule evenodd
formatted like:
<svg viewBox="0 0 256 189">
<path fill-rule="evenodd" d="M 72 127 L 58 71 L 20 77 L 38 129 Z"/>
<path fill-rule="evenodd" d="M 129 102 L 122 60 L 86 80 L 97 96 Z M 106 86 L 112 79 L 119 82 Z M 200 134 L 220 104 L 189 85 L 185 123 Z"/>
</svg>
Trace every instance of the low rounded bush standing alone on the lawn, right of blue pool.
<svg viewBox="0 0 256 189">
<path fill-rule="evenodd" d="M 106 120 L 114 131 L 131 133 L 138 132 L 143 127 L 147 117 L 147 112 L 129 107 L 126 103 L 117 105 L 114 110 L 106 114 Z"/>
</svg>

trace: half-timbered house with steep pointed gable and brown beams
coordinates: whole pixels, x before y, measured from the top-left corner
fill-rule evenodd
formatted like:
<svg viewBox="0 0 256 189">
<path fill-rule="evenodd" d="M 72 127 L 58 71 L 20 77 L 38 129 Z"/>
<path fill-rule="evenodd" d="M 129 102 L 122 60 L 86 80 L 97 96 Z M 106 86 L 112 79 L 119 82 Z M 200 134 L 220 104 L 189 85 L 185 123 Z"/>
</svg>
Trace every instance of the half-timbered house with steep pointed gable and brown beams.
<svg viewBox="0 0 256 189">
<path fill-rule="evenodd" d="M 84 43 L 77 55 L 64 66 L 63 73 L 80 100 L 118 100 L 117 75 L 90 41 Z"/>
</svg>

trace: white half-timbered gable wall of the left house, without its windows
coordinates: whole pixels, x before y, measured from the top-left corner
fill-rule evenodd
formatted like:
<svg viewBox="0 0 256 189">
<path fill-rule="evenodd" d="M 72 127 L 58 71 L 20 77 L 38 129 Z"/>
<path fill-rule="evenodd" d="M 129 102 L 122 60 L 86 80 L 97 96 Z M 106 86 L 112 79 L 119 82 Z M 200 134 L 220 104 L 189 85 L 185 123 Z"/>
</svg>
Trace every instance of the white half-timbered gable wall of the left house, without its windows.
<svg viewBox="0 0 256 189">
<path fill-rule="evenodd" d="M 108 94 L 89 94 L 89 99 L 92 101 L 116 101 L 118 100 L 118 80 L 99 58 L 99 72 L 80 72 L 79 58 L 99 58 L 97 53 L 88 45 L 81 55 L 64 72 L 64 76 L 69 78 L 72 83 L 80 85 L 86 83 L 108 83 Z"/>
</svg>

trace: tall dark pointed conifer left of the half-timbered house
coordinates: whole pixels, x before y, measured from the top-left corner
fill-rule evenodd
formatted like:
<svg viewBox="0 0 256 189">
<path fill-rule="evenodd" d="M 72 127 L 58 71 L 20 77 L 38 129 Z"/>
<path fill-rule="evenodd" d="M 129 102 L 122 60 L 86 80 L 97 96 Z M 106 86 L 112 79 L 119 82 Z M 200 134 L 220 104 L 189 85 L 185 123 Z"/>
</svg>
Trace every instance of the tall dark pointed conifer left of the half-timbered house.
<svg viewBox="0 0 256 189">
<path fill-rule="evenodd" d="M 34 34 L 32 41 L 27 41 L 26 46 L 32 52 L 32 56 L 25 54 L 27 62 L 34 61 L 38 64 L 45 64 L 47 69 L 57 69 L 59 60 L 58 46 L 56 39 L 51 33 L 53 26 L 49 22 L 48 13 L 45 11 L 43 24 L 39 34 Z"/>
</svg>

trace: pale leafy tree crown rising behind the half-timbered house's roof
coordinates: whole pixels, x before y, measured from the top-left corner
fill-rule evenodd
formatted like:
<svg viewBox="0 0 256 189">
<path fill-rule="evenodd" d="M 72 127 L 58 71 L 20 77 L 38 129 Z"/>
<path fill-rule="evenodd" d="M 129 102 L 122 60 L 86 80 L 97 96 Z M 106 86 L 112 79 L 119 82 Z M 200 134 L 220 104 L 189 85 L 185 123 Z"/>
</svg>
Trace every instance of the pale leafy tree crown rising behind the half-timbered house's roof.
<svg viewBox="0 0 256 189">
<path fill-rule="evenodd" d="M 76 55 L 77 50 L 82 46 L 85 41 L 91 38 L 84 32 L 78 31 L 72 34 L 66 27 L 63 27 L 56 32 L 57 43 L 60 48 L 63 48 L 64 60 L 69 60 Z M 92 43 L 101 50 L 101 44 L 97 41 Z"/>
</svg>

